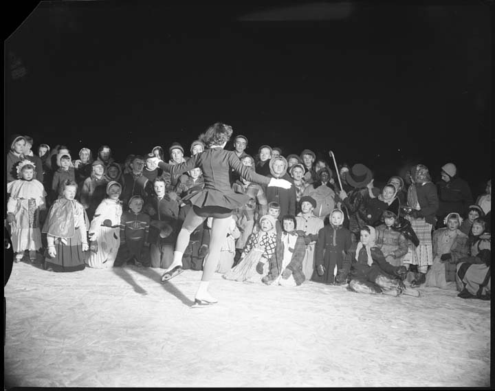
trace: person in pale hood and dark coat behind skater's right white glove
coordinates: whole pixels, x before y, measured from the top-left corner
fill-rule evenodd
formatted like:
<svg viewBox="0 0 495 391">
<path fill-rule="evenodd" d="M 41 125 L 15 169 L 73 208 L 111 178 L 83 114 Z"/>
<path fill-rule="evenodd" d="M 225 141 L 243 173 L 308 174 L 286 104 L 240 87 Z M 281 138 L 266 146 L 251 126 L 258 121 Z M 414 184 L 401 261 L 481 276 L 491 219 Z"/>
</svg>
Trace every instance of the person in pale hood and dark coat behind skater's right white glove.
<svg viewBox="0 0 495 391">
<path fill-rule="evenodd" d="M 293 183 L 292 178 L 287 174 L 287 160 L 285 160 L 285 157 L 278 156 L 270 159 L 269 166 L 270 175 L 267 175 L 267 177 L 286 179 Z M 285 214 L 292 214 L 293 216 L 296 214 L 296 187 L 294 184 L 288 190 L 284 188 L 267 187 L 266 197 L 268 203 L 276 202 L 280 205 L 281 212 L 279 219 L 281 219 L 281 216 L 285 216 Z"/>
</svg>

